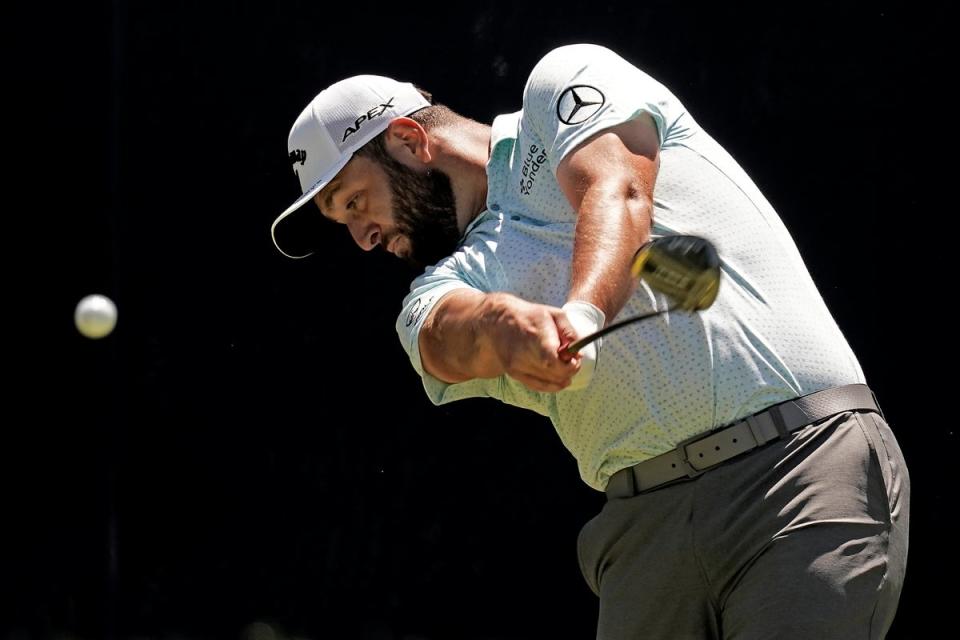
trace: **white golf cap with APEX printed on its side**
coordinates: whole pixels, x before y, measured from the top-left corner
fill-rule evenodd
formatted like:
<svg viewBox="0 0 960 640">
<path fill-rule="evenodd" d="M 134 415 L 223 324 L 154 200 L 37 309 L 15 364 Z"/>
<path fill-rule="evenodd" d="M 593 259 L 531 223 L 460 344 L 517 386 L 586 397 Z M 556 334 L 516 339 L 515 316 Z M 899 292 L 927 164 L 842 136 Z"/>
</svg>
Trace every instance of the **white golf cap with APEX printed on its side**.
<svg viewBox="0 0 960 640">
<path fill-rule="evenodd" d="M 317 94 L 303 110 L 287 140 L 293 172 L 303 190 L 270 227 L 273 243 L 290 258 L 313 253 L 319 212 L 297 213 L 333 180 L 354 152 L 382 133 L 390 121 L 430 102 L 409 82 L 383 76 L 353 76 Z"/>
</svg>

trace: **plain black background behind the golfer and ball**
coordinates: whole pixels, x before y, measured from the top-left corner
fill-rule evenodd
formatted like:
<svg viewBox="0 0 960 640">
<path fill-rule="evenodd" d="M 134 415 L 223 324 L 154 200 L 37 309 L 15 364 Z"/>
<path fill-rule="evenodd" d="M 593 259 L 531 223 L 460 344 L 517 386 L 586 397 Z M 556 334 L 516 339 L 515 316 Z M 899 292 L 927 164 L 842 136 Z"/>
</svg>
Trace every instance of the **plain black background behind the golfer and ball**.
<svg viewBox="0 0 960 640">
<path fill-rule="evenodd" d="M 7 137 L 24 146 L 4 236 L 19 328 L 0 632 L 593 637 L 575 540 L 602 498 L 549 423 L 493 401 L 430 405 L 393 329 L 415 275 L 403 265 L 345 231 L 304 261 L 269 238 L 298 194 L 287 132 L 327 84 L 393 75 L 490 122 L 519 108 L 544 53 L 576 41 L 671 87 L 794 234 L 910 463 L 890 637 L 942 628 L 957 595 L 957 438 L 934 377 L 954 342 L 933 313 L 955 213 L 932 178 L 952 117 L 935 89 L 955 76 L 946 6 L 91 2 L 10 16 Z M 93 292 L 120 310 L 102 341 L 72 324 Z"/>
</svg>

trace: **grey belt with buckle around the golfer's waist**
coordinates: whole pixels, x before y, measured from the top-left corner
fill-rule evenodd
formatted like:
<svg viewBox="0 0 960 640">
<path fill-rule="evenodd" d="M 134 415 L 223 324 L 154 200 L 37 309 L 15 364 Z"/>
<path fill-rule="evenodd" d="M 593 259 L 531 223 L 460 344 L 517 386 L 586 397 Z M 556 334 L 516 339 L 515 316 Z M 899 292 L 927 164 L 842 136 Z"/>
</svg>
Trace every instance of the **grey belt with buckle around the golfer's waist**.
<svg viewBox="0 0 960 640">
<path fill-rule="evenodd" d="M 865 384 L 848 384 L 787 400 L 729 426 L 697 434 L 672 451 L 617 471 L 607 483 L 607 498 L 629 498 L 683 477 L 695 478 L 721 462 L 845 411 L 880 413 L 880 407 Z"/>
</svg>

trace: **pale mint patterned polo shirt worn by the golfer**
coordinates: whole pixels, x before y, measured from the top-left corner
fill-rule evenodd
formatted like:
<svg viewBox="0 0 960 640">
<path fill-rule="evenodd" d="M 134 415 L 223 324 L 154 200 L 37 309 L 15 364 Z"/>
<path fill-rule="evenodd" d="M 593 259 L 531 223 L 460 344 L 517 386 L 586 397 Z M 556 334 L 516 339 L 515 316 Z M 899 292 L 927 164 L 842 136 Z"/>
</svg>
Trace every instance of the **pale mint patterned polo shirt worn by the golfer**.
<svg viewBox="0 0 960 640">
<path fill-rule="evenodd" d="M 590 385 L 579 391 L 539 393 L 505 375 L 446 384 L 424 372 L 419 331 L 447 293 L 566 301 L 577 212 L 557 184 L 557 166 L 590 136 L 643 113 L 660 140 L 652 235 L 694 234 L 716 245 L 723 276 L 714 305 L 608 335 Z M 493 123 L 487 176 L 487 209 L 453 255 L 412 283 L 397 319 L 434 403 L 491 397 L 547 416 L 584 482 L 603 490 L 619 469 L 693 435 L 783 400 L 865 382 L 770 203 L 666 87 L 612 51 L 582 44 L 547 54 L 530 74 L 523 109 Z M 607 322 L 666 306 L 641 282 Z"/>
</svg>

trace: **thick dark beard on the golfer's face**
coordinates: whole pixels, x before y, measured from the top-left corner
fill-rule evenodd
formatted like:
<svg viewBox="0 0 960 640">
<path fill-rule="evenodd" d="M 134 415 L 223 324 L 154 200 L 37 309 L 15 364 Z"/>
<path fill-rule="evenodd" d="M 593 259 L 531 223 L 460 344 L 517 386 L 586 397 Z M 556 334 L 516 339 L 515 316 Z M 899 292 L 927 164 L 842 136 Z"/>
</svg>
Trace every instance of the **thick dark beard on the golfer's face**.
<svg viewBox="0 0 960 640">
<path fill-rule="evenodd" d="M 397 229 L 410 241 L 404 259 L 423 269 L 447 257 L 460 243 L 457 206 L 450 177 L 436 169 L 417 173 L 385 154 Z"/>
</svg>

